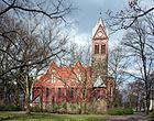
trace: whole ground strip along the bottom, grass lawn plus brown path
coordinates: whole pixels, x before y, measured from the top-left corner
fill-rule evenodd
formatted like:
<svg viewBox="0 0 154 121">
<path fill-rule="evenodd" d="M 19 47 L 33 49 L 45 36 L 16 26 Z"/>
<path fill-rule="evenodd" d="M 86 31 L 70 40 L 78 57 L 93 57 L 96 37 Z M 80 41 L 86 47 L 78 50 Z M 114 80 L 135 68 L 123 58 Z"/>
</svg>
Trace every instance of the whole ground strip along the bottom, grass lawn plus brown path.
<svg viewBox="0 0 154 121">
<path fill-rule="evenodd" d="M 25 112 L 0 112 L 0 121 L 153 121 L 143 113 L 132 116 L 106 116 L 106 114 L 55 114 Z"/>
</svg>

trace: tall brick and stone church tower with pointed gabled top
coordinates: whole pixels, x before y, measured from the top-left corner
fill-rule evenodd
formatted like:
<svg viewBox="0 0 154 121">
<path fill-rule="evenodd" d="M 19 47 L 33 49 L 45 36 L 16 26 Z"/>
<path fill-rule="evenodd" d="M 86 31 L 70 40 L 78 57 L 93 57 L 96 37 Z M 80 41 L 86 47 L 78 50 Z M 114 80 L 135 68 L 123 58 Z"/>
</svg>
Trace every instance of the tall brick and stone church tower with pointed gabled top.
<svg viewBox="0 0 154 121">
<path fill-rule="evenodd" d="M 102 19 L 99 18 L 92 30 L 92 82 L 98 77 L 108 76 L 108 36 Z"/>
</svg>

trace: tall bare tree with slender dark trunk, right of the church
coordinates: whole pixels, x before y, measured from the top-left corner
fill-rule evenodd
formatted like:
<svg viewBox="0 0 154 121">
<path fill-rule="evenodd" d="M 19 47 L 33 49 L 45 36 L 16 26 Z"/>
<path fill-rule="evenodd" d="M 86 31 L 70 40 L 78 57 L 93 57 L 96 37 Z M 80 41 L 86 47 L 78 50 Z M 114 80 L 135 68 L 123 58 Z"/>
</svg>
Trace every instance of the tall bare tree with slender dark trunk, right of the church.
<svg viewBox="0 0 154 121">
<path fill-rule="evenodd" d="M 151 1 L 153 3 L 153 1 Z M 138 66 L 140 73 L 131 76 L 144 81 L 146 96 L 146 112 L 148 113 L 151 81 L 150 74 L 153 68 L 153 6 L 144 7 L 139 0 L 130 0 L 129 8 L 125 8 L 117 13 L 108 11 L 108 25 L 112 32 L 119 30 L 128 30 L 124 35 L 123 45 L 128 48 L 128 57 L 132 57 L 132 63 Z M 131 61 L 131 59 L 130 59 Z M 136 69 L 136 68 L 135 68 Z"/>
</svg>

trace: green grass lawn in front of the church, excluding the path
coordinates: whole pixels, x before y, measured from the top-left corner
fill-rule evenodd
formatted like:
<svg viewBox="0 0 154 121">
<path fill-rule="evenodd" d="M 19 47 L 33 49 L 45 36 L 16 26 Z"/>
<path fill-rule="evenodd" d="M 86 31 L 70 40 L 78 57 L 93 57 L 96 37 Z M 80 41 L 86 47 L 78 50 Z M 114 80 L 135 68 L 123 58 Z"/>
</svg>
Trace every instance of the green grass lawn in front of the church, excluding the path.
<svg viewBox="0 0 154 121">
<path fill-rule="evenodd" d="M 53 114 L 24 112 L 0 112 L 0 121 L 107 121 L 107 117 L 97 114 Z"/>
</svg>

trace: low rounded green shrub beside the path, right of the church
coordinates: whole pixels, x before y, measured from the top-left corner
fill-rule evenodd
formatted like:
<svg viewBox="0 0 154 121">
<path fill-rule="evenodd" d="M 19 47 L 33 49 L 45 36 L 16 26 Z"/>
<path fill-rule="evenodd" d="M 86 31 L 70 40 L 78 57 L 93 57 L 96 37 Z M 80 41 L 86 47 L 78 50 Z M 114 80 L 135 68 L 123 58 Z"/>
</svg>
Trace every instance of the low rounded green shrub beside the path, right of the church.
<svg viewBox="0 0 154 121">
<path fill-rule="evenodd" d="M 124 116 L 124 114 L 133 114 L 133 110 L 124 108 L 113 108 L 109 109 L 107 113 L 111 116 Z"/>
</svg>

